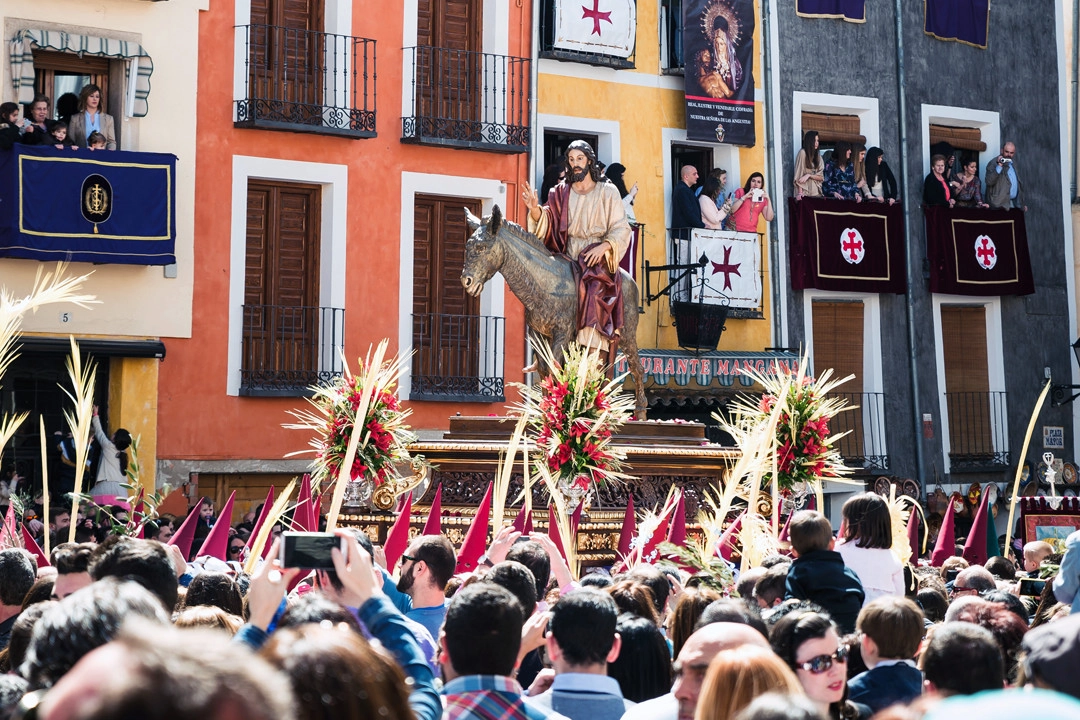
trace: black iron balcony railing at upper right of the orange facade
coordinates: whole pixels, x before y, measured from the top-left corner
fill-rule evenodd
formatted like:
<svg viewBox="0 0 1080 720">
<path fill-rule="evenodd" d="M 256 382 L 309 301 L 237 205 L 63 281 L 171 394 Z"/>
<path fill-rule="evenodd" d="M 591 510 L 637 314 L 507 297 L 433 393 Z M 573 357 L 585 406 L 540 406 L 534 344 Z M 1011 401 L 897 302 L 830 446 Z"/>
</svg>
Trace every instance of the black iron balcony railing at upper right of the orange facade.
<svg viewBox="0 0 1080 720">
<path fill-rule="evenodd" d="M 529 149 L 529 59 L 447 47 L 405 49 L 413 79 L 402 142 L 494 152 Z"/>
</svg>

